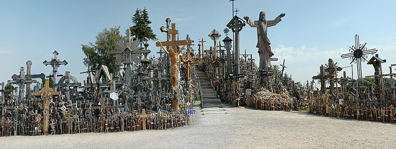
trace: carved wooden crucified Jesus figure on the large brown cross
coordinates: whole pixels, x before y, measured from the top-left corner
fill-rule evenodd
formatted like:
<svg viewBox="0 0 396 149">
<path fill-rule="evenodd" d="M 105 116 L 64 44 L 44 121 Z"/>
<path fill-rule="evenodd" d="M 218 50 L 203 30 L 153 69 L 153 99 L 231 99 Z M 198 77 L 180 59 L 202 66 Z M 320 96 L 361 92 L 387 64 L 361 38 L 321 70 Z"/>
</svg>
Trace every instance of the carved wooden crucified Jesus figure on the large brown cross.
<svg viewBox="0 0 396 149">
<path fill-rule="evenodd" d="M 183 47 L 176 53 L 176 50 L 170 49 L 169 51 L 166 50 L 161 42 L 158 41 L 160 44 L 161 48 L 165 51 L 166 54 L 169 55 L 170 58 L 170 75 L 171 75 L 171 83 L 172 83 L 172 88 L 176 89 L 177 88 L 177 75 L 179 74 L 179 68 L 177 66 L 177 60 L 179 59 L 179 54 L 182 52 L 184 47 L 188 44 L 186 41 L 186 44 L 183 45 Z"/>
</svg>

